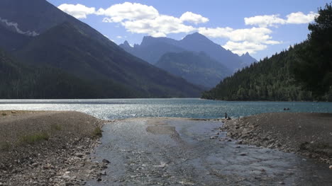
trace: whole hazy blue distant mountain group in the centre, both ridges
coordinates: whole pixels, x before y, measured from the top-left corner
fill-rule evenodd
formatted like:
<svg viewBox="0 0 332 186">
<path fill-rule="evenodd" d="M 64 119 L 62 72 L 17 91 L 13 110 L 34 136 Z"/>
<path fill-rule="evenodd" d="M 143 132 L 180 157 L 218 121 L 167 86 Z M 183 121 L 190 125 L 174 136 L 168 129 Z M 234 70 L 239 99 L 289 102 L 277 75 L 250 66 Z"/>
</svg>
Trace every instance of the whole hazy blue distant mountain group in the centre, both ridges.
<svg viewBox="0 0 332 186">
<path fill-rule="evenodd" d="M 212 88 L 226 76 L 257 62 L 248 52 L 238 56 L 200 33 L 187 35 L 182 40 L 146 36 L 140 45 L 131 47 L 125 41 L 119 46 L 170 74 L 205 88 Z"/>
</svg>

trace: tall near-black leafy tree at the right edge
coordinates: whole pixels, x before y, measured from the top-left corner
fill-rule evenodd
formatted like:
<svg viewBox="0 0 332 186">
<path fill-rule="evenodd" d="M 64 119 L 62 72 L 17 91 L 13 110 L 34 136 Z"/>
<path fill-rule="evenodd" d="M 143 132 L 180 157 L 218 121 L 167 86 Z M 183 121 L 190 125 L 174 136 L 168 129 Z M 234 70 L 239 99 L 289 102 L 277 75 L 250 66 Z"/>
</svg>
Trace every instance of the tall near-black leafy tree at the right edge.
<svg viewBox="0 0 332 186">
<path fill-rule="evenodd" d="M 298 52 L 294 75 L 306 90 L 321 96 L 332 88 L 332 5 L 319 8 L 319 16 L 308 28 L 311 33 Z"/>
</svg>

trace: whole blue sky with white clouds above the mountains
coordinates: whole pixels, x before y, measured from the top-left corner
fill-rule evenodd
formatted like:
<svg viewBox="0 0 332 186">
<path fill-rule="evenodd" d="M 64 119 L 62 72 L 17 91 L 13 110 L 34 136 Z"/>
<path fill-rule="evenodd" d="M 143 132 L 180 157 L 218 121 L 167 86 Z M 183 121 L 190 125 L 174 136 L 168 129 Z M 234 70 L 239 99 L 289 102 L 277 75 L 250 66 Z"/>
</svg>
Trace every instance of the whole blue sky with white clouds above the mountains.
<svg viewBox="0 0 332 186">
<path fill-rule="evenodd" d="M 48 0 L 110 40 L 201 33 L 236 54 L 270 57 L 306 40 L 326 0 Z"/>
</svg>

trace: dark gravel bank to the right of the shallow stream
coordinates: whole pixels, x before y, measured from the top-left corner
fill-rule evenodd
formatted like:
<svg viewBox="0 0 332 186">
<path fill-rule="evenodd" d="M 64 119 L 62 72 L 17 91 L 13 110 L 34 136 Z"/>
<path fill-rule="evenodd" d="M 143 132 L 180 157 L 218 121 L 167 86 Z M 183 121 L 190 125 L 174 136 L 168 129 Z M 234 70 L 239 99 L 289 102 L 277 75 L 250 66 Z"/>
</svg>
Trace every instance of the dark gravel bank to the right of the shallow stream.
<svg viewBox="0 0 332 186">
<path fill-rule="evenodd" d="M 332 164 L 332 114 L 265 113 L 221 127 L 238 144 L 294 152 Z"/>
</svg>

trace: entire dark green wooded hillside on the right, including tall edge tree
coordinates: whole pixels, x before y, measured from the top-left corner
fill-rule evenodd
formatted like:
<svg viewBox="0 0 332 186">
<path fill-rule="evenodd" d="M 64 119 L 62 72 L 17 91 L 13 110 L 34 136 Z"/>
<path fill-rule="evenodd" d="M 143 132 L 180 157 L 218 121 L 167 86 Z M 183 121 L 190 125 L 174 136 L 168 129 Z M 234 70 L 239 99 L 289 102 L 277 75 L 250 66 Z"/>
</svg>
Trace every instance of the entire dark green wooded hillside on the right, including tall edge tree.
<svg viewBox="0 0 332 186">
<path fill-rule="evenodd" d="M 305 42 L 223 79 L 202 98 L 332 101 L 332 4 L 318 13 Z"/>
</svg>

